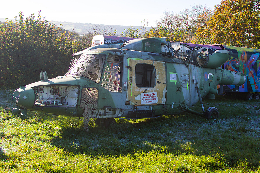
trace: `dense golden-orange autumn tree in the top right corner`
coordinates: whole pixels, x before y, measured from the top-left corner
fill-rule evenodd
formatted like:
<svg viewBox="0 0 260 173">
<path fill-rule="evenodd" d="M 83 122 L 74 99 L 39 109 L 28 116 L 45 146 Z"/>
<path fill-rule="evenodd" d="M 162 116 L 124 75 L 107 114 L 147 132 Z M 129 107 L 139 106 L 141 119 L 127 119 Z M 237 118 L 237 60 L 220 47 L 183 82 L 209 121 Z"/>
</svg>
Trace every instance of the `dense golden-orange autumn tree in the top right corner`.
<svg viewBox="0 0 260 173">
<path fill-rule="evenodd" d="M 213 42 L 260 49 L 259 6 L 259 0 L 223 0 L 208 24 Z"/>
</svg>

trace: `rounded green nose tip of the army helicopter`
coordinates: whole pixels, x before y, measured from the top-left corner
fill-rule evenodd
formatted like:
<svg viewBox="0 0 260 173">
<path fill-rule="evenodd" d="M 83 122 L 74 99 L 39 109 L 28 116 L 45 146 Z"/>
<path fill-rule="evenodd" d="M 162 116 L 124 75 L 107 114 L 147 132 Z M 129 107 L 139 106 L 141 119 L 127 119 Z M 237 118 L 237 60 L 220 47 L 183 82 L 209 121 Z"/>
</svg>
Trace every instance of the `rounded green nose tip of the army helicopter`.
<svg viewBox="0 0 260 173">
<path fill-rule="evenodd" d="M 13 94 L 13 101 L 17 106 L 24 109 L 32 108 L 35 102 L 35 93 L 33 88 L 21 86 L 19 89 L 16 89 Z"/>
</svg>

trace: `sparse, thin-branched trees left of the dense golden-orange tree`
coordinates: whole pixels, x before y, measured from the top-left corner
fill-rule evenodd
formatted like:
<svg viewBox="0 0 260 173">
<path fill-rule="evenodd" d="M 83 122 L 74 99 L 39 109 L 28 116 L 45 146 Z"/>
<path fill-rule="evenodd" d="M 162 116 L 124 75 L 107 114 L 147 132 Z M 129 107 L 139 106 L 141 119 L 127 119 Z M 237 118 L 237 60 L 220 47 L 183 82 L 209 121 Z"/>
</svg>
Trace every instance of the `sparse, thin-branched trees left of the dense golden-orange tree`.
<svg viewBox="0 0 260 173">
<path fill-rule="evenodd" d="M 170 41 L 193 43 L 198 30 L 203 30 L 212 17 L 212 10 L 206 6 L 192 5 L 175 14 L 165 11 L 156 27 L 153 27 L 147 37 L 167 37 Z"/>
</svg>

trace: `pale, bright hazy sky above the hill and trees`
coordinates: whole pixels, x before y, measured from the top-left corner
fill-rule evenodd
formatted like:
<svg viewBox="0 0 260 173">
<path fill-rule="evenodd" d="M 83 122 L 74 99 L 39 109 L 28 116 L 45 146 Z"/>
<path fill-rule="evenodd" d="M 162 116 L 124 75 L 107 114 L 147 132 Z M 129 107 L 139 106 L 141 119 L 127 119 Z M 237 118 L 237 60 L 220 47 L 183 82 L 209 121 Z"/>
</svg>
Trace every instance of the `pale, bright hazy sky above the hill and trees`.
<svg viewBox="0 0 260 173">
<path fill-rule="evenodd" d="M 1 4 L 0 18 L 19 16 L 23 11 L 24 18 L 41 10 L 41 16 L 47 20 L 61 22 L 78 22 L 107 25 L 140 26 L 141 21 L 148 19 L 148 26 L 154 26 L 164 11 L 179 11 L 200 4 L 214 9 L 221 0 L 4 0 Z"/>
</svg>

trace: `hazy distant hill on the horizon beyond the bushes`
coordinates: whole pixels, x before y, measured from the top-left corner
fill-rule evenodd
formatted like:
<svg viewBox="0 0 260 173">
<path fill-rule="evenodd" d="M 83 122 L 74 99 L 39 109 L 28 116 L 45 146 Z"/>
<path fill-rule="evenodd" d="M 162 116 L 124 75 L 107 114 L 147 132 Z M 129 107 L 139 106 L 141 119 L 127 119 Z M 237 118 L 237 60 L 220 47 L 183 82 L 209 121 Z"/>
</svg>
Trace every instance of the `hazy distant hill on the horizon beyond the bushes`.
<svg viewBox="0 0 260 173">
<path fill-rule="evenodd" d="M 4 18 L 0 18 L 1 22 L 4 22 Z M 93 29 L 92 27 L 96 28 L 97 27 L 102 27 L 103 29 L 116 31 L 118 34 L 121 34 L 124 30 L 127 30 L 128 28 L 131 28 L 132 26 L 122 26 L 122 25 L 103 25 L 103 24 L 91 24 L 91 23 L 73 23 L 73 22 L 61 22 L 61 21 L 51 21 L 51 23 L 55 24 L 56 26 L 60 26 L 62 24 L 62 28 L 69 30 L 69 31 L 75 31 L 79 34 L 85 34 L 88 32 L 92 32 Z M 134 29 L 139 29 L 140 26 L 133 26 Z M 148 27 L 148 31 L 151 29 L 151 27 Z"/>
</svg>

